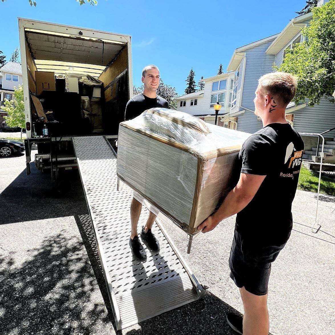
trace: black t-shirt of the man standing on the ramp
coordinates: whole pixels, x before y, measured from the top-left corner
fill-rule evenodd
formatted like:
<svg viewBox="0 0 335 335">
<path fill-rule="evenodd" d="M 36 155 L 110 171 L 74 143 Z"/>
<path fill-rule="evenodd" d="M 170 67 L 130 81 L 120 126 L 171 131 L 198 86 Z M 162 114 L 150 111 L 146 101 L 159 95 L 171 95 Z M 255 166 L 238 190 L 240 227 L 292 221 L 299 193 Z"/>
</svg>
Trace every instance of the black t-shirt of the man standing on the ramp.
<svg viewBox="0 0 335 335">
<path fill-rule="evenodd" d="M 127 103 L 125 121 L 134 119 L 147 109 L 154 107 L 169 108 L 169 103 L 159 95 L 149 98 L 143 92 L 136 94 Z"/>
</svg>

